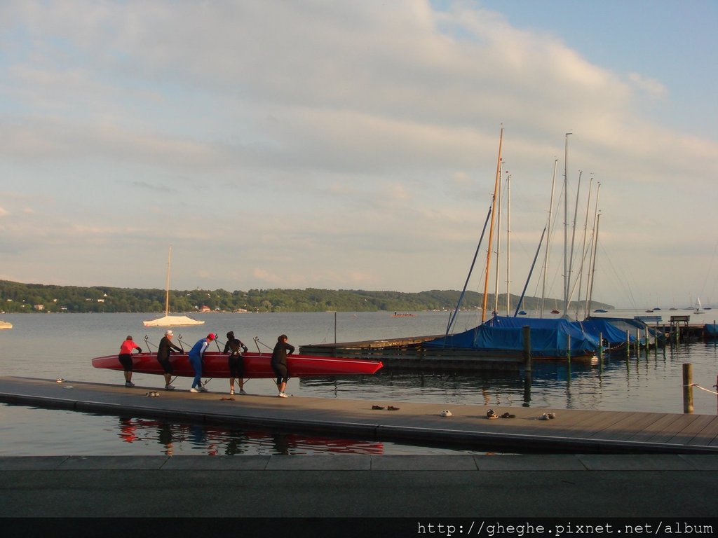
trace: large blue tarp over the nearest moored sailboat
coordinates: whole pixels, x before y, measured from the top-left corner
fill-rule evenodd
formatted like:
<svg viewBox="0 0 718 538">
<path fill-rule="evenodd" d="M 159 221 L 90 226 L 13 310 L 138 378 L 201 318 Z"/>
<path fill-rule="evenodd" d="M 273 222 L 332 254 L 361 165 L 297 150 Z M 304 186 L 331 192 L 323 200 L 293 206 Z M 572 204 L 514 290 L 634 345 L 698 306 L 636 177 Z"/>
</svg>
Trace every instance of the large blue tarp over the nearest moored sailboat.
<svg viewBox="0 0 718 538">
<path fill-rule="evenodd" d="M 584 331 L 581 324 L 565 319 L 513 318 L 494 316 L 473 329 L 424 342 L 429 348 L 476 349 L 486 353 L 521 353 L 523 326 L 531 327 L 531 354 L 535 357 L 566 357 L 568 336 L 571 355 L 579 357 L 598 349 L 598 336 Z"/>
</svg>

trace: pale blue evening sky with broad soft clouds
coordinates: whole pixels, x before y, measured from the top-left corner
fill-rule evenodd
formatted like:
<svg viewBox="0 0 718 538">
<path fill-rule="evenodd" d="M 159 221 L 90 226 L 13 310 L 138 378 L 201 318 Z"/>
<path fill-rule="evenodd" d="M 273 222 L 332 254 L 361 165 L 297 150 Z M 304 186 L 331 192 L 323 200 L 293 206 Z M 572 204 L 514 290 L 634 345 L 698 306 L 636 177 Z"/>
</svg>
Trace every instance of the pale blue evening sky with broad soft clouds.
<svg viewBox="0 0 718 538">
<path fill-rule="evenodd" d="M 164 288 L 171 246 L 173 289 L 460 290 L 500 141 L 500 293 L 536 256 L 528 295 L 584 298 L 597 220 L 595 301 L 718 305 L 716 27 L 713 0 L 1 2 L 0 279 Z"/>
</svg>

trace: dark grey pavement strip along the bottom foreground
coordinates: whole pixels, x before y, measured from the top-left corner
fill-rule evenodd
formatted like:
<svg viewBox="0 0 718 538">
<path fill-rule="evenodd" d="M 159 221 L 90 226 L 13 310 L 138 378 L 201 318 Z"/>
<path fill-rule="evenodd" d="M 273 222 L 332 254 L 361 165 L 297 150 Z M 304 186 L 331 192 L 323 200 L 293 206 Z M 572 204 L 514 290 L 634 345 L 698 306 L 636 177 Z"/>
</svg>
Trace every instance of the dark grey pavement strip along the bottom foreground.
<svg viewBox="0 0 718 538">
<path fill-rule="evenodd" d="M 712 455 L 7 457 L 0 516 L 716 518 L 716 471 Z"/>
</svg>

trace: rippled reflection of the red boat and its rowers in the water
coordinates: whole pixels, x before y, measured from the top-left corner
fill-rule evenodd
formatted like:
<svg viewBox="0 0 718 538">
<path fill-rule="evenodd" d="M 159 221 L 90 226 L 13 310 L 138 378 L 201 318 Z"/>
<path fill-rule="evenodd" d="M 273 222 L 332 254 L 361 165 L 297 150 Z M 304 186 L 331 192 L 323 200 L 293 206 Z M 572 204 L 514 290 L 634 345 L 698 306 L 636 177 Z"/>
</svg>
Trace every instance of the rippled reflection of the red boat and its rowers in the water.
<svg viewBox="0 0 718 538">
<path fill-rule="evenodd" d="M 163 420 L 119 417 L 118 438 L 123 443 L 159 443 L 165 456 L 185 450 L 198 450 L 207 456 L 241 454 L 284 454 L 299 456 L 313 453 L 383 454 L 377 441 L 327 438 L 297 433 L 242 431 L 199 424 L 174 424 Z"/>
</svg>

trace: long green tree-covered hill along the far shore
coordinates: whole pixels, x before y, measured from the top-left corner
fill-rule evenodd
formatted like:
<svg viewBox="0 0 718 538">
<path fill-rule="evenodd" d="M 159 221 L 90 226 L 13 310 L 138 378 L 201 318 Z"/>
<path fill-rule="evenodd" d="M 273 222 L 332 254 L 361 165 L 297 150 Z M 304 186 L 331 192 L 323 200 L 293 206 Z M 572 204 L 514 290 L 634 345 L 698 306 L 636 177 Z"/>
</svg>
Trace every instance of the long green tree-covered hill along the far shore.
<svg viewBox="0 0 718 538">
<path fill-rule="evenodd" d="M 419 293 L 363 290 L 171 290 L 169 310 L 191 312 L 202 308 L 211 311 L 257 312 L 323 312 L 323 311 L 422 311 L 451 310 L 456 307 L 460 292 L 432 290 Z M 534 310 L 538 298 L 525 298 L 521 308 Z M 157 288 L 111 288 L 24 284 L 0 280 L 0 311 L 5 312 L 162 312 L 165 291 Z M 511 296 L 516 306 L 518 297 Z M 551 300 L 553 303 L 553 300 Z M 467 291 L 462 308 L 475 309 L 482 304 L 482 294 Z M 493 295 L 488 296 L 493 304 Z M 500 296 L 500 305 L 505 296 Z M 592 303 L 592 308 L 610 308 Z"/>
</svg>

